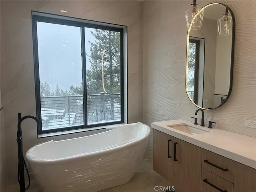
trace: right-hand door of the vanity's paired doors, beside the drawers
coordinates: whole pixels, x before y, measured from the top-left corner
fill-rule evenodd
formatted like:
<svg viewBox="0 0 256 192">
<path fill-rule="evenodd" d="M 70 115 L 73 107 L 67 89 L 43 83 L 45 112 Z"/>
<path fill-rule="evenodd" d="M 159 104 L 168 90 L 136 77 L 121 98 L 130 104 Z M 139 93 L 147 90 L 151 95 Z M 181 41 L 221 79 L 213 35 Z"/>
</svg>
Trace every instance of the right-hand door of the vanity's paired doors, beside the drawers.
<svg viewBox="0 0 256 192">
<path fill-rule="evenodd" d="M 175 144 L 176 143 L 176 144 Z M 174 184 L 183 192 L 201 190 L 202 148 L 174 138 Z"/>
</svg>

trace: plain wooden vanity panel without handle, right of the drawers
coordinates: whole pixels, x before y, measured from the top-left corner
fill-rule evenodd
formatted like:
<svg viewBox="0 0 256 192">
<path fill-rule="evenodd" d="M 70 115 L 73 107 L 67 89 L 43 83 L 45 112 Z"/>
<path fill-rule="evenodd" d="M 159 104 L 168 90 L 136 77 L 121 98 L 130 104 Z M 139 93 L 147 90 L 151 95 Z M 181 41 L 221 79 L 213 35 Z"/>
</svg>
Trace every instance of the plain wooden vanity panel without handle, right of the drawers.
<svg viewBox="0 0 256 192">
<path fill-rule="evenodd" d="M 256 169 L 235 162 L 234 192 L 256 191 Z"/>
</svg>

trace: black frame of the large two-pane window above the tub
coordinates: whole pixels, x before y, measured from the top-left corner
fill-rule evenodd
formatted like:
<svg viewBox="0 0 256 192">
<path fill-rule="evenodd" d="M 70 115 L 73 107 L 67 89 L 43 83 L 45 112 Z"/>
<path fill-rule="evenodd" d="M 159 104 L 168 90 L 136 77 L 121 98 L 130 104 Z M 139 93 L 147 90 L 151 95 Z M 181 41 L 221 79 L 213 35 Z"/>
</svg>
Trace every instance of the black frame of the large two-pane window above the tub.
<svg viewBox="0 0 256 192">
<path fill-rule="evenodd" d="M 83 112 L 84 124 L 78 126 L 69 126 L 64 128 L 54 128 L 42 130 L 41 119 L 41 96 L 40 96 L 40 71 L 38 60 L 38 37 L 36 22 L 47 22 L 52 24 L 61 24 L 76 26 L 81 29 L 81 60 L 82 60 L 82 83 L 83 83 Z M 85 52 L 85 28 L 95 28 L 102 30 L 111 30 L 120 32 L 120 99 L 121 99 L 121 117 L 120 121 L 89 124 L 87 120 L 87 84 L 86 84 L 86 52 Z M 44 136 L 54 136 L 59 134 L 69 134 L 73 132 L 88 131 L 94 129 L 106 128 L 109 125 L 127 124 L 127 26 L 48 14 L 43 12 L 32 11 L 32 37 L 34 52 L 34 78 L 36 92 L 36 116 L 41 124 L 37 127 L 38 138 Z M 71 131 L 71 132 L 70 132 Z M 50 135 L 49 135 L 50 134 Z"/>
</svg>

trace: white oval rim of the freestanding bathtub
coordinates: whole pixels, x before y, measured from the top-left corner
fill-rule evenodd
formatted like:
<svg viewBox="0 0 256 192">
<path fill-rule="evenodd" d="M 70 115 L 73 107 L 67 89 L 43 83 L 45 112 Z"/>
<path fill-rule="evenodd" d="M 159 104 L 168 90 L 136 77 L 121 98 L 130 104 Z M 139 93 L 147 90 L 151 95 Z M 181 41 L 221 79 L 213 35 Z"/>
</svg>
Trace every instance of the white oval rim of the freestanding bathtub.
<svg viewBox="0 0 256 192">
<path fill-rule="evenodd" d="M 146 127 L 146 132 L 144 134 L 142 134 L 141 137 L 139 137 L 139 138 L 136 138 L 134 140 L 126 140 L 124 142 L 119 143 L 118 145 L 113 145 L 113 147 L 111 147 L 111 148 L 106 148 L 106 149 L 102 149 L 102 150 L 98 150 L 98 151 L 86 152 L 86 153 L 81 153 L 81 154 L 76 154 L 76 155 L 72 155 L 72 156 L 68 156 L 68 157 L 64 157 L 64 158 L 56 158 L 56 159 L 44 159 L 44 158 L 37 158 L 37 157 L 31 156 L 31 152 L 40 145 L 47 144 L 47 143 L 54 143 L 54 142 L 63 142 L 63 141 L 66 141 L 66 140 L 74 140 L 74 139 L 79 139 L 79 138 L 85 138 L 85 137 L 92 136 L 92 135 L 89 135 L 89 136 L 82 136 L 82 137 L 70 138 L 70 139 L 59 140 L 59 141 L 50 140 L 48 142 L 43 142 L 43 143 L 40 143 L 40 144 L 36 144 L 36 145 L 34 145 L 33 147 L 31 147 L 30 149 L 27 150 L 25 159 L 28 161 L 28 163 L 32 162 L 32 163 L 40 163 L 40 164 L 55 164 L 55 163 L 59 164 L 59 163 L 65 163 L 65 162 L 73 160 L 73 159 L 76 159 L 77 161 L 79 161 L 82 158 L 89 158 L 91 156 L 96 157 L 98 155 L 104 155 L 104 154 L 107 154 L 108 152 L 111 152 L 111 151 L 114 151 L 114 150 L 119 150 L 121 148 L 129 148 L 131 146 L 136 146 L 136 145 L 144 142 L 146 138 L 147 138 L 147 141 L 148 141 L 148 136 L 149 136 L 150 131 L 151 131 L 150 127 L 147 126 L 146 124 L 141 123 L 141 122 L 133 123 L 131 125 L 135 125 L 135 124 L 141 124 L 142 126 L 145 126 Z M 111 130 L 108 130 L 106 132 L 114 131 L 115 129 L 122 128 L 122 127 L 127 126 L 127 125 L 128 124 L 120 125 L 120 126 L 113 126 L 113 127 L 111 127 L 112 128 Z M 97 134 L 93 134 L 93 135 L 103 134 L 103 133 L 106 133 L 106 132 L 101 132 L 101 133 L 97 133 Z"/>
</svg>

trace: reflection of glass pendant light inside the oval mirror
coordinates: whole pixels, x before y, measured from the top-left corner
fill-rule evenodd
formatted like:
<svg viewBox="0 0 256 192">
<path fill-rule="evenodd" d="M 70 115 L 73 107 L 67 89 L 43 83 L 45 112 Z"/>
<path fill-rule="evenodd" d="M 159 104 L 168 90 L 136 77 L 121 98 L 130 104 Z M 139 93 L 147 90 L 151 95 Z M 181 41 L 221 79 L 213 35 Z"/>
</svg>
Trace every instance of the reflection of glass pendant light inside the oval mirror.
<svg viewBox="0 0 256 192">
<path fill-rule="evenodd" d="M 228 13 L 228 8 L 226 8 L 222 18 L 218 19 L 217 24 L 219 35 L 227 36 L 232 34 L 232 17 Z"/>
</svg>

